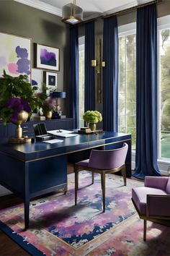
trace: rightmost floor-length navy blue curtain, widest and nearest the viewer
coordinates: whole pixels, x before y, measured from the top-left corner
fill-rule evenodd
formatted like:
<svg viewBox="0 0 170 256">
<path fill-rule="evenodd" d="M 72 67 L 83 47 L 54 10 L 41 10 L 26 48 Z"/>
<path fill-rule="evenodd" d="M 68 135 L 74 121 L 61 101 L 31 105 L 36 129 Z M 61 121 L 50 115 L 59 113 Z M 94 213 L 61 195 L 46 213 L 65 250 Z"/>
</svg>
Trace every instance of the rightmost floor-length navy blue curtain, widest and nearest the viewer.
<svg viewBox="0 0 170 256">
<path fill-rule="evenodd" d="M 138 9 L 136 52 L 135 174 L 161 176 L 157 166 L 157 18 L 156 4 Z"/>
</svg>

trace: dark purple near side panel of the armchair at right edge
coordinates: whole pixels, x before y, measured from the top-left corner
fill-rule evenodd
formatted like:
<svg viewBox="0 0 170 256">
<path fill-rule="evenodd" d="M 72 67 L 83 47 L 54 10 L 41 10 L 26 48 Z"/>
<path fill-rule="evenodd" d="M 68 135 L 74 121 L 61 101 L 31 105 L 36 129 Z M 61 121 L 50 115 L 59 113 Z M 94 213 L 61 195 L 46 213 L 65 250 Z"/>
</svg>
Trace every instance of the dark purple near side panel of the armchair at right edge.
<svg viewBox="0 0 170 256">
<path fill-rule="evenodd" d="M 170 219 L 170 195 L 147 195 L 146 216 Z"/>
</svg>

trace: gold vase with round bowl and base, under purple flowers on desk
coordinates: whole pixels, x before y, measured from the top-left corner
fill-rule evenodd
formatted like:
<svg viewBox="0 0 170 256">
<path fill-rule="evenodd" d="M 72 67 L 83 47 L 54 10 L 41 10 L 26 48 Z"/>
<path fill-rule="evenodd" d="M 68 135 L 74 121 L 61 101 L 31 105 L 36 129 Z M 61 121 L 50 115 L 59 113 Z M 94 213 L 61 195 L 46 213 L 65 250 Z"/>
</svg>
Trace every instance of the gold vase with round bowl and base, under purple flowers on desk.
<svg viewBox="0 0 170 256">
<path fill-rule="evenodd" d="M 27 143 L 31 141 L 31 138 L 28 138 L 27 136 L 22 136 L 22 127 L 21 124 L 24 123 L 24 121 L 27 121 L 28 113 L 24 110 L 20 111 L 17 117 L 17 121 L 13 122 L 13 124 L 16 124 L 16 131 L 15 131 L 15 137 L 12 137 L 9 139 L 10 143 L 14 144 L 22 144 Z"/>
</svg>

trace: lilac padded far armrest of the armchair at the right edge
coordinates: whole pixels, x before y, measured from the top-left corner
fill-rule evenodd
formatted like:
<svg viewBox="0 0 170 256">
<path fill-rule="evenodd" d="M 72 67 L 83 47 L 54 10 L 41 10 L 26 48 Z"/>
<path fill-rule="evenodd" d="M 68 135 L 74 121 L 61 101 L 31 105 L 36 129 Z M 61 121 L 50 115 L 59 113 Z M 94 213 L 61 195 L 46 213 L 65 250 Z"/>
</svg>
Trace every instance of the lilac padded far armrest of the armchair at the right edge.
<svg viewBox="0 0 170 256">
<path fill-rule="evenodd" d="M 156 189 L 166 190 L 166 185 L 168 183 L 168 180 L 169 180 L 169 177 L 146 176 L 145 187 L 154 187 Z"/>
</svg>

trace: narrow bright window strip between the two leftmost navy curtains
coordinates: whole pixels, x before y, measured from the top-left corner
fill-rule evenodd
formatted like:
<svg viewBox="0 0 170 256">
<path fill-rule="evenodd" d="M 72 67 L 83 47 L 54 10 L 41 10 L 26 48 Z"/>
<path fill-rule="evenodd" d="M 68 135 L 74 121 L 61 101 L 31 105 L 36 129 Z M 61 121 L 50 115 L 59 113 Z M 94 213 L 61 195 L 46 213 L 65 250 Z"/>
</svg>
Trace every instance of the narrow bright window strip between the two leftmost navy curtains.
<svg viewBox="0 0 170 256">
<path fill-rule="evenodd" d="M 79 127 L 84 127 L 84 36 L 79 38 Z"/>
</svg>

